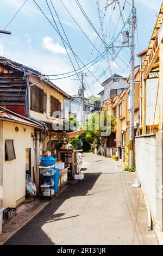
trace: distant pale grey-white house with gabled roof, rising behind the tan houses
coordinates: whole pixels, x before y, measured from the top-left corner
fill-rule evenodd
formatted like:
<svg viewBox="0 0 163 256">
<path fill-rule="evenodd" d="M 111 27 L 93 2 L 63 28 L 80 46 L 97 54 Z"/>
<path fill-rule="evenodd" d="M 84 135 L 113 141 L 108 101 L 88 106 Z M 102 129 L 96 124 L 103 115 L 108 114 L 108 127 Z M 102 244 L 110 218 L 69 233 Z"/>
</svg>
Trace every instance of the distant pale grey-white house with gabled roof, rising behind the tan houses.
<svg viewBox="0 0 163 256">
<path fill-rule="evenodd" d="M 114 74 L 102 83 L 104 90 L 98 95 L 101 96 L 101 102 L 112 99 L 115 96 L 120 95 L 123 90 L 128 88 L 128 83 L 125 77 Z"/>
</svg>

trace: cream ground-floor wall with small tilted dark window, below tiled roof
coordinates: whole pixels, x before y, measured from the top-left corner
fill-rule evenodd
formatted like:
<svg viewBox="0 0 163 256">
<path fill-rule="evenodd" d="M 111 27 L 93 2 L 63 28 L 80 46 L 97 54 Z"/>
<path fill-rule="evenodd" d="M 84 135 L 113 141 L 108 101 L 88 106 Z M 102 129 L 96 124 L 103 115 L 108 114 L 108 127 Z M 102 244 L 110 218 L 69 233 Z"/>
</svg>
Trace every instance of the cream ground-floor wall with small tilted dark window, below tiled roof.
<svg viewBox="0 0 163 256">
<path fill-rule="evenodd" d="M 19 131 L 15 131 L 15 127 Z M 24 131 L 24 128 L 26 131 Z M 31 148 L 32 167 L 35 165 L 35 151 L 31 133 L 34 128 L 26 125 L 3 122 L 3 207 L 16 207 L 16 202 L 26 196 L 26 148 Z M 14 139 L 16 159 L 5 161 L 5 139 Z M 21 199 L 21 200 L 20 200 Z"/>
</svg>

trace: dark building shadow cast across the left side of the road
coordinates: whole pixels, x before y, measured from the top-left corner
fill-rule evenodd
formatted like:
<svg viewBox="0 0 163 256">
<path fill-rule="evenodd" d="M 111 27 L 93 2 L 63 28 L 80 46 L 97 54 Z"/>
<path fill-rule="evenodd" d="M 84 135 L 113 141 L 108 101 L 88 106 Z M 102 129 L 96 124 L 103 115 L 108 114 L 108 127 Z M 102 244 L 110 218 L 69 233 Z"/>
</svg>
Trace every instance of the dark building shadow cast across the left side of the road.
<svg viewBox="0 0 163 256">
<path fill-rule="evenodd" d="M 93 174 L 93 175 L 90 175 Z M 72 197 L 86 196 L 91 190 L 97 179 L 102 173 L 85 173 L 84 180 L 77 184 L 70 185 L 59 194 L 51 203 L 49 203 L 39 214 L 29 221 L 22 229 L 12 236 L 4 245 L 55 245 L 48 235 L 42 230 L 46 223 L 62 221 L 67 218 L 77 218 L 79 215 L 68 216 L 64 218 L 66 212 L 55 214 L 55 212 L 64 204 L 65 200 Z M 74 205 L 74 208 L 76 205 Z M 55 231 L 55 230 L 54 230 Z M 61 230 L 64 232 L 64 230 Z"/>
</svg>

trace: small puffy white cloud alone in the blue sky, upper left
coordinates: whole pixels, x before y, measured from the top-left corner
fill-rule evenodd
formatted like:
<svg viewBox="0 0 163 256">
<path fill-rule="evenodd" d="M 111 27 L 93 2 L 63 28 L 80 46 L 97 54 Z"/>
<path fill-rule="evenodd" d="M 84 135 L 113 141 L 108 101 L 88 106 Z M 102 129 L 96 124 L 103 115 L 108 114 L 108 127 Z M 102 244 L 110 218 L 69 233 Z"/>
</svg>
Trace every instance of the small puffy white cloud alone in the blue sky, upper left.
<svg viewBox="0 0 163 256">
<path fill-rule="evenodd" d="M 62 47 L 59 43 L 54 44 L 53 39 L 49 36 L 46 36 L 43 38 L 43 46 L 53 52 L 54 54 L 60 53 L 60 54 L 66 54 L 66 49 Z"/>
</svg>

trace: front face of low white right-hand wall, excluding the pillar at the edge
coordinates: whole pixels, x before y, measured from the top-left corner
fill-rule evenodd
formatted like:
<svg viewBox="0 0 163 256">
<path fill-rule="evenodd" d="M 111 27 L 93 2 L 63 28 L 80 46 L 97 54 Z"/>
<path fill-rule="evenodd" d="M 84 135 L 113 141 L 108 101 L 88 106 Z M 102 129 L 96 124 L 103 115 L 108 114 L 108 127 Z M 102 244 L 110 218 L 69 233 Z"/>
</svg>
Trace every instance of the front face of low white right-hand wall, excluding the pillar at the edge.
<svg viewBox="0 0 163 256">
<path fill-rule="evenodd" d="M 136 173 L 145 191 L 156 220 L 156 138 L 155 135 L 140 136 L 136 141 Z"/>
</svg>

